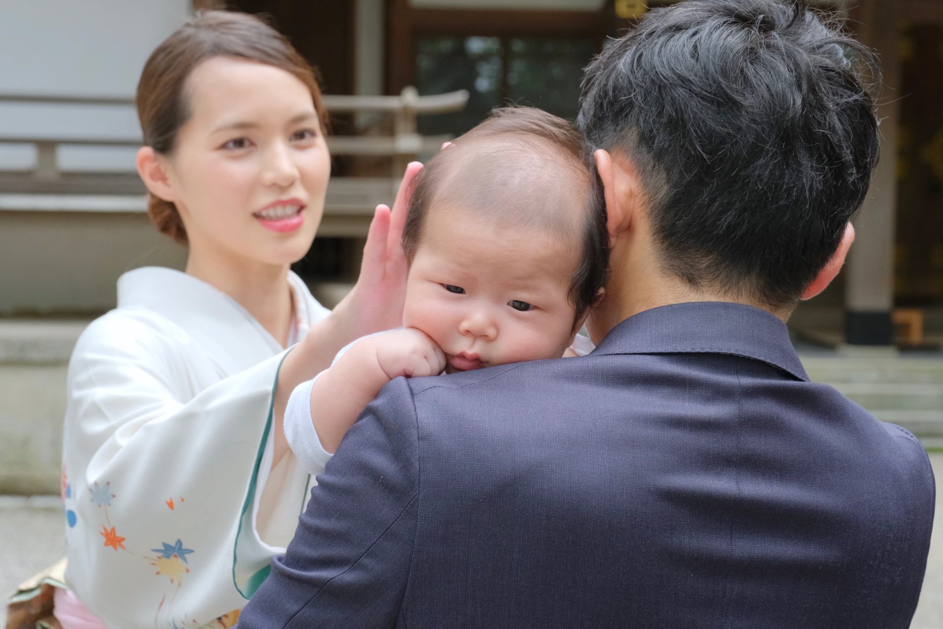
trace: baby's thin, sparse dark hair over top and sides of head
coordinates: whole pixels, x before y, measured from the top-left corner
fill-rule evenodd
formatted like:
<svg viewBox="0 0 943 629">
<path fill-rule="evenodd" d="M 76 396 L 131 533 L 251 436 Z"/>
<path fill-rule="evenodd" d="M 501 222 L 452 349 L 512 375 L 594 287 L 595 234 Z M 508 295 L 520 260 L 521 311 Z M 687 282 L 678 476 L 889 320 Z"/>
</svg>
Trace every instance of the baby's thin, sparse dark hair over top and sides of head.
<svg viewBox="0 0 943 629">
<path fill-rule="evenodd" d="M 608 263 L 603 191 L 592 164 L 573 124 L 537 108 L 496 108 L 413 180 L 406 257 L 415 256 L 433 207 L 550 232 L 580 252 L 569 291 L 579 319 L 603 287 Z"/>
</svg>

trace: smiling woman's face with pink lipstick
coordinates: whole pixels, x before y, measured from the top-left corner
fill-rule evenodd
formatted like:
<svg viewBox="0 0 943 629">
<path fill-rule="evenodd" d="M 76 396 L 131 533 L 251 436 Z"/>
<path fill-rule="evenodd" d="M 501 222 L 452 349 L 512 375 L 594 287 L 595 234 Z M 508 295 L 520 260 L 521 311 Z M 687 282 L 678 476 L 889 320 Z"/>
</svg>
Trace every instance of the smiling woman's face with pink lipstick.
<svg viewBox="0 0 943 629">
<path fill-rule="evenodd" d="M 305 84 L 271 65 L 216 57 L 193 70 L 187 92 L 190 119 L 164 159 L 190 256 L 240 266 L 301 259 L 331 170 Z"/>
</svg>

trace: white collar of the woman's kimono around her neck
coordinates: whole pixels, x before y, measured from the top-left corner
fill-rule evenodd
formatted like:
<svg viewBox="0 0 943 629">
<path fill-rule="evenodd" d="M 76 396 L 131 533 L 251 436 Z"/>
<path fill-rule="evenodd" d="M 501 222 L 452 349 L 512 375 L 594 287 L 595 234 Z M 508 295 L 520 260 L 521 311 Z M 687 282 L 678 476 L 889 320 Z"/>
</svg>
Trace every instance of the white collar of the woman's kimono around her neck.
<svg viewBox="0 0 943 629">
<path fill-rule="evenodd" d="M 327 312 L 295 273 L 289 272 L 298 338 Z M 283 347 L 235 299 L 187 273 L 143 267 L 118 279 L 118 307 L 144 308 L 176 324 L 224 372 L 235 373 L 283 351 Z"/>
</svg>

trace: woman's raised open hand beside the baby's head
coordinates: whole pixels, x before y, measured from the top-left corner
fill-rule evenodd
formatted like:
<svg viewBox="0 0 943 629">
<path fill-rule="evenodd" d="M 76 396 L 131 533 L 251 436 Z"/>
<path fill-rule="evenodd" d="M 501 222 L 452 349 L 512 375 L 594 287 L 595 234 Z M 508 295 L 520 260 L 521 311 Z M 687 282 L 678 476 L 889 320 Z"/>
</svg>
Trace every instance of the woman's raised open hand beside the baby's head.
<svg viewBox="0 0 943 629">
<path fill-rule="evenodd" d="M 373 213 L 356 286 L 332 315 L 345 337 L 343 344 L 403 324 L 406 257 L 400 240 L 409 207 L 410 184 L 420 170 L 420 162 L 410 162 L 392 210 L 377 206 Z"/>
</svg>

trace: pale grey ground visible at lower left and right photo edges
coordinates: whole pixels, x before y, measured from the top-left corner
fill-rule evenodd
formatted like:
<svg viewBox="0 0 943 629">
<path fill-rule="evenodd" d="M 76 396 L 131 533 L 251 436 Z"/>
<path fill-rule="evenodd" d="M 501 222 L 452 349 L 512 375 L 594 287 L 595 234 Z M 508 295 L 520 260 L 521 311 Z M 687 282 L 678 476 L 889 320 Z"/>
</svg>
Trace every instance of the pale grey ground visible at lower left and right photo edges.
<svg viewBox="0 0 943 629">
<path fill-rule="evenodd" d="M 930 458 L 937 484 L 943 485 L 943 454 Z M 936 493 L 936 513 L 927 576 L 911 629 L 943 627 L 943 490 Z M 62 527 L 58 498 L 0 496 L 0 593 L 11 592 L 63 554 Z M 0 609 L 0 627 L 6 618 L 6 609 Z"/>
</svg>

